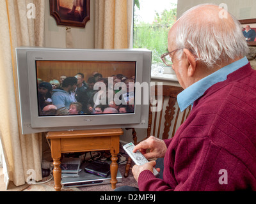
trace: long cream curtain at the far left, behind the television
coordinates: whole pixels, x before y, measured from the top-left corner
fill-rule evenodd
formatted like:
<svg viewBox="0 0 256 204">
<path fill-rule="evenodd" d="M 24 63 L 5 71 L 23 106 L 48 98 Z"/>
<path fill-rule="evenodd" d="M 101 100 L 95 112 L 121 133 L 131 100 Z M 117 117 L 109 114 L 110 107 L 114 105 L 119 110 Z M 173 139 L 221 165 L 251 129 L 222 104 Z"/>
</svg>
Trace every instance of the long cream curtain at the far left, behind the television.
<svg viewBox="0 0 256 204">
<path fill-rule="evenodd" d="M 0 1 L 0 139 L 4 154 L 4 179 L 25 184 L 35 170 L 42 180 L 42 134 L 21 135 L 15 48 L 44 45 L 45 1 Z M 28 171 L 30 170 L 30 171 Z"/>
</svg>

